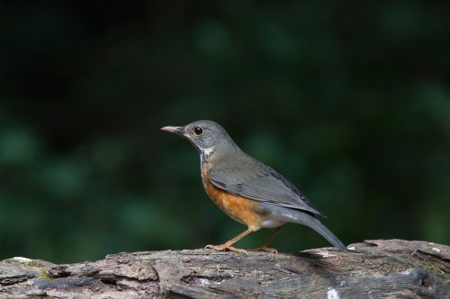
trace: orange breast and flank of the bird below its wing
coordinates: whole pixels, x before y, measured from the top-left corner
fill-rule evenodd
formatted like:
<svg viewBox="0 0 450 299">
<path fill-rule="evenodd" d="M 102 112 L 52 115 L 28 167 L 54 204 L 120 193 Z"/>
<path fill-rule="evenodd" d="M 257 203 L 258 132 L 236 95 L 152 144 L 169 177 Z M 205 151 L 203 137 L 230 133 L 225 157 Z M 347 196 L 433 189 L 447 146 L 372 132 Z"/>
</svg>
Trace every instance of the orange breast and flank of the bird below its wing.
<svg viewBox="0 0 450 299">
<path fill-rule="evenodd" d="M 263 215 L 257 212 L 256 201 L 231 195 L 212 185 L 206 165 L 202 165 L 202 181 L 208 196 L 225 214 L 241 224 L 247 224 L 250 231 L 257 231 L 261 228 Z"/>
</svg>

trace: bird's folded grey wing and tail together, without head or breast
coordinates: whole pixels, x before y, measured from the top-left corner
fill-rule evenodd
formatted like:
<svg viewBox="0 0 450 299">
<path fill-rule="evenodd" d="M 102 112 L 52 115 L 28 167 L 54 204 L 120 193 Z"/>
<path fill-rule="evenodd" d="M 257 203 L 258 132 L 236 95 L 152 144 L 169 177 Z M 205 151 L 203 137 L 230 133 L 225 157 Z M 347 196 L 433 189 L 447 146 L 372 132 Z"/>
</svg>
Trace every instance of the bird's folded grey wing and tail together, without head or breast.
<svg viewBox="0 0 450 299">
<path fill-rule="evenodd" d="M 311 227 L 333 246 L 346 249 L 338 237 L 320 223 L 317 207 L 281 174 L 256 159 L 238 155 L 211 167 L 211 182 L 220 189 L 244 198 L 260 201 L 260 207 L 274 220 Z"/>
</svg>

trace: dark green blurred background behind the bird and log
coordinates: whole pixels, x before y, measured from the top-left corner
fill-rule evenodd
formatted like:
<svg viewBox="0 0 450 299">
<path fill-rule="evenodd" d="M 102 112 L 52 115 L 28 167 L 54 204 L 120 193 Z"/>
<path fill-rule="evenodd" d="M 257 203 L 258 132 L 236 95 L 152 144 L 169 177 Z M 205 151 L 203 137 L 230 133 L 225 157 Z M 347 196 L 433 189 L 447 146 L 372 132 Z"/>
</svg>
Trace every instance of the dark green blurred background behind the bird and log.
<svg viewBox="0 0 450 299">
<path fill-rule="evenodd" d="M 450 243 L 450 4 L 0 4 L 0 259 L 225 242 L 189 143 L 218 121 L 343 242 Z M 268 230 L 239 245 L 258 246 Z M 329 244 L 290 224 L 274 246 Z"/>
</svg>

